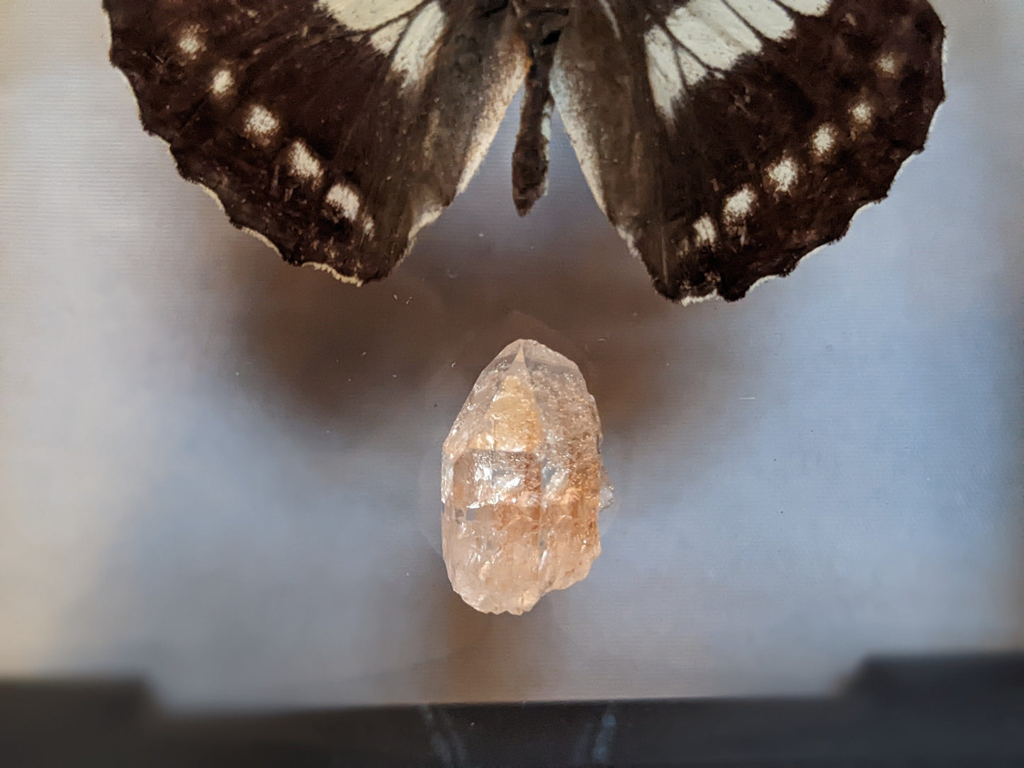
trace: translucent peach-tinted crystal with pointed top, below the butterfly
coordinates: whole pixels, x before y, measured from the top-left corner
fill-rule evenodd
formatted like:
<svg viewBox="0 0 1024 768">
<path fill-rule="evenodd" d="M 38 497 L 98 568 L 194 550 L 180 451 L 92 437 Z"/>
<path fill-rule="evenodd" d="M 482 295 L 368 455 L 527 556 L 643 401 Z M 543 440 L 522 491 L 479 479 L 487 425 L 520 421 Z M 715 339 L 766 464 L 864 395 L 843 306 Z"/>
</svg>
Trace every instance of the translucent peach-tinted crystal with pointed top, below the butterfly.
<svg viewBox="0 0 1024 768">
<path fill-rule="evenodd" d="M 587 577 L 611 490 L 600 444 L 572 360 L 520 339 L 483 369 L 441 450 L 441 546 L 463 600 L 523 613 Z"/>
</svg>

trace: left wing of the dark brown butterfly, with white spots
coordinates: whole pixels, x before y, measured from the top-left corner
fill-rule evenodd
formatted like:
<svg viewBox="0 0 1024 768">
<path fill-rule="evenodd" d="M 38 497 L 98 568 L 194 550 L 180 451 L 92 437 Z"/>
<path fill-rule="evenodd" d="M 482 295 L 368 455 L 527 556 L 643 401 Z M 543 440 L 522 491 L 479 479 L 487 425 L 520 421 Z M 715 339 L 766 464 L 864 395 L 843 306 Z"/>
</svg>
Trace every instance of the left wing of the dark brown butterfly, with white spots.
<svg viewBox="0 0 1024 768">
<path fill-rule="evenodd" d="M 512 14 L 447 0 L 104 0 L 145 128 L 292 263 L 385 276 L 522 82 Z"/>
</svg>

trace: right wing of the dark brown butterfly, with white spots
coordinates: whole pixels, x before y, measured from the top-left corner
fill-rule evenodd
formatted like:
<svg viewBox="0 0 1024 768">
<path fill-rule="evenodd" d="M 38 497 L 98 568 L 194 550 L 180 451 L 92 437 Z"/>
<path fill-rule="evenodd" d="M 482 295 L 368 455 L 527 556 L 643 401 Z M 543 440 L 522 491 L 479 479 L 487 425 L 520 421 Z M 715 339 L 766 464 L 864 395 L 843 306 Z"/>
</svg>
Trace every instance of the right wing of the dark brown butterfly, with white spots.
<svg viewBox="0 0 1024 768">
<path fill-rule="evenodd" d="M 841 238 L 944 97 L 926 0 L 595 0 L 552 91 L 599 205 L 674 300 Z"/>
</svg>

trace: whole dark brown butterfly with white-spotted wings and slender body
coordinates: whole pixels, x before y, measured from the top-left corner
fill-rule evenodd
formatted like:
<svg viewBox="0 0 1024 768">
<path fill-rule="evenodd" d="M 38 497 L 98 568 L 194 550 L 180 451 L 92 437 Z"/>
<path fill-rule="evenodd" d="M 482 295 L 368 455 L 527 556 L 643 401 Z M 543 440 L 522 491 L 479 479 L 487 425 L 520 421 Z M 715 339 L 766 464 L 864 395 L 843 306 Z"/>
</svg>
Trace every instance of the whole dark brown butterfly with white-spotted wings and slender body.
<svg viewBox="0 0 1024 768">
<path fill-rule="evenodd" d="M 927 0 L 104 0 L 144 127 L 295 264 L 387 275 L 523 88 L 673 300 L 738 299 L 841 238 L 944 97 Z"/>
</svg>

